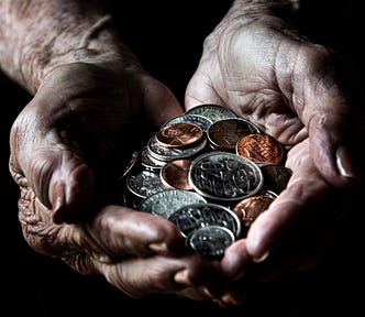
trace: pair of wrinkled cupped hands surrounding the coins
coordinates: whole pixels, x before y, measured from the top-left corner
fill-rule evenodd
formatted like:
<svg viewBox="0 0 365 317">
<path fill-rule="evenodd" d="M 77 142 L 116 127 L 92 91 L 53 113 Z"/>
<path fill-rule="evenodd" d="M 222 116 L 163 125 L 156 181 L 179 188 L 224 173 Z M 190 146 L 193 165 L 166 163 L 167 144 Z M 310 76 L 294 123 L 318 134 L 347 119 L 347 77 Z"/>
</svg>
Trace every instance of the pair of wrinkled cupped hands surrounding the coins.
<svg viewBox="0 0 365 317">
<path fill-rule="evenodd" d="M 133 297 L 240 304 L 253 284 L 316 265 L 361 173 L 361 107 L 346 64 L 275 18 L 217 28 L 181 106 L 137 58 L 69 63 L 43 78 L 11 130 L 10 171 L 27 243 Z M 202 103 L 231 108 L 286 146 L 287 188 L 220 261 L 188 250 L 170 221 L 111 204 L 130 145 Z M 365 122 L 365 121 L 363 121 Z M 364 124 L 363 124 L 364 125 Z M 121 162 L 124 162 L 123 164 Z"/>
</svg>

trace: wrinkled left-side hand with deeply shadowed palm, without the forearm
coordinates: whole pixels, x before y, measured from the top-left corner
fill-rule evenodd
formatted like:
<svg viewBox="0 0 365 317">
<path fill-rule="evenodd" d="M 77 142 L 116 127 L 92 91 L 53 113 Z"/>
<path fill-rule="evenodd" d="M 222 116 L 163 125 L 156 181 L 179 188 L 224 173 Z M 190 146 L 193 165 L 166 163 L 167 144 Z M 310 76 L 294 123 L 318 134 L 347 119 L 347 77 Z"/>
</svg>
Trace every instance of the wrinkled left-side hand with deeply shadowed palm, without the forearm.
<svg viewBox="0 0 365 317">
<path fill-rule="evenodd" d="M 182 112 L 162 83 L 140 68 L 117 68 L 60 66 L 16 118 L 10 168 L 21 188 L 24 238 L 131 296 L 208 299 L 199 285 L 210 278 L 211 264 L 186 252 L 175 225 L 104 200 L 132 145 L 145 141 L 141 127 L 154 129 Z"/>
</svg>

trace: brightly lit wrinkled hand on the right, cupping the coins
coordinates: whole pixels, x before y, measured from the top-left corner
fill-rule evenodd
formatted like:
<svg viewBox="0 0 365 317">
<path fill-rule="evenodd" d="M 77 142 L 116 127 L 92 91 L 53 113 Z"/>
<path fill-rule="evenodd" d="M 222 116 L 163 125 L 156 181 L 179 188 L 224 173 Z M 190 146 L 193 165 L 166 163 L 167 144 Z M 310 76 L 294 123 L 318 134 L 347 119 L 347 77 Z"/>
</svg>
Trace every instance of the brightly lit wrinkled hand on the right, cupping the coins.
<svg viewBox="0 0 365 317">
<path fill-rule="evenodd" d="M 250 274 L 272 281 L 316 265 L 360 188 L 362 167 L 352 160 L 365 134 L 351 90 L 356 84 L 333 52 L 286 30 L 276 18 L 220 25 L 206 40 L 186 91 L 188 109 L 202 102 L 226 105 L 288 150 L 292 176 L 287 188 L 221 261 L 224 274 L 235 281 L 232 302 L 241 300 Z M 347 174 L 340 174 L 341 168 Z"/>
</svg>

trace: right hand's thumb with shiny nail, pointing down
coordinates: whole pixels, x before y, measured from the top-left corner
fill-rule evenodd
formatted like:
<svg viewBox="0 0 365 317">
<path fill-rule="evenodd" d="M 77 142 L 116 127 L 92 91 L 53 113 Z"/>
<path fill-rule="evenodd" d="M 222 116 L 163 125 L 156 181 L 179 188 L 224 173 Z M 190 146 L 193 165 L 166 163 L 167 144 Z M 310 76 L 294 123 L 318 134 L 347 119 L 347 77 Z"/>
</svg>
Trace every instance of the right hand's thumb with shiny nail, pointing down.
<svg viewBox="0 0 365 317">
<path fill-rule="evenodd" d="M 295 103 L 302 102 L 303 111 L 298 105 L 295 107 L 309 131 L 311 153 L 319 172 L 334 186 L 353 188 L 358 186 L 362 176 L 357 153 L 365 135 L 360 131 L 364 117 L 356 90 L 358 85 L 350 66 L 336 54 L 321 46 L 307 50 L 310 53 L 303 55 L 310 59 L 303 58 L 297 65 L 306 69 L 307 80 L 299 88 L 302 91 L 296 91 L 298 86 L 294 83 L 294 98 L 298 92 Z"/>
</svg>

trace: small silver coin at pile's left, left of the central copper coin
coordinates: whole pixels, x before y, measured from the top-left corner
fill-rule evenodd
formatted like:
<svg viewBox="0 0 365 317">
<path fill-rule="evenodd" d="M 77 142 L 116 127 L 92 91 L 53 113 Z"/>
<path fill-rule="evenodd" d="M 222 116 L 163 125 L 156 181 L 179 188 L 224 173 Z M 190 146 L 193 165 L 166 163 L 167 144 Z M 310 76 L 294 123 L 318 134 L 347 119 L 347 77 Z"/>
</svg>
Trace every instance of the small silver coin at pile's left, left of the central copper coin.
<svg viewBox="0 0 365 317">
<path fill-rule="evenodd" d="M 162 183 L 159 174 L 143 170 L 135 174 L 128 174 L 126 188 L 140 198 L 146 198 L 155 193 L 167 189 Z"/>
</svg>

